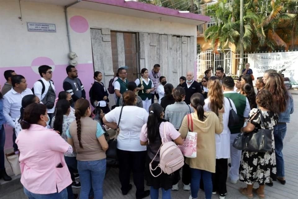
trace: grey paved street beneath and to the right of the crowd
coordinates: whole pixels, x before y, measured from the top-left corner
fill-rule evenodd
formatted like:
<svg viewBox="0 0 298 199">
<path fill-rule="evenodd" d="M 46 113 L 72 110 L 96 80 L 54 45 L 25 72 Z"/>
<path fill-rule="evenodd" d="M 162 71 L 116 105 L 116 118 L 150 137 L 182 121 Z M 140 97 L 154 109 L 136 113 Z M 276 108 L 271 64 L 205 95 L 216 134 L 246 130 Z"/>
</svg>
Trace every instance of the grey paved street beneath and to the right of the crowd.
<svg viewBox="0 0 298 199">
<path fill-rule="evenodd" d="M 294 93 L 293 93 L 294 94 Z M 291 123 L 288 125 L 287 135 L 284 139 L 284 159 L 285 159 L 285 173 L 286 173 L 286 185 L 282 185 L 279 182 L 274 182 L 273 187 L 265 187 L 266 199 L 297 199 L 298 198 L 298 131 L 296 117 L 298 118 L 298 95 L 293 95 L 295 103 L 295 111 L 291 115 Z M 7 170 L 11 174 L 11 169 Z M 20 176 L 14 177 L 15 180 L 5 183 L 0 180 L 0 199 L 25 199 L 23 193 L 23 187 L 20 183 Z M 132 182 L 132 180 L 131 180 Z M 180 182 L 181 183 L 181 182 Z M 227 199 L 245 199 L 238 192 L 239 187 L 245 187 L 242 182 L 237 184 L 231 184 L 227 182 L 228 194 Z M 118 170 L 110 169 L 106 174 L 104 182 L 104 198 L 119 198 L 119 199 L 132 199 L 135 193 L 135 187 L 129 192 L 127 196 L 122 196 L 120 192 L 120 183 L 118 179 Z M 179 185 L 179 191 L 172 191 L 173 199 L 188 199 L 190 192 L 183 191 L 182 185 Z M 149 187 L 147 187 L 149 189 Z M 74 189 L 75 192 L 79 192 L 79 189 Z M 149 198 L 149 197 L 147 197 Z M 160 197 L 161 198 L 161 197 Z M 204 199 L 204 192 L 199 191 L 199 199 Z M 218 195 L 214 195 L 212 199 L 219 198 Z M 257 196 L 255 196 L 257 198 Z"/>
</svg>

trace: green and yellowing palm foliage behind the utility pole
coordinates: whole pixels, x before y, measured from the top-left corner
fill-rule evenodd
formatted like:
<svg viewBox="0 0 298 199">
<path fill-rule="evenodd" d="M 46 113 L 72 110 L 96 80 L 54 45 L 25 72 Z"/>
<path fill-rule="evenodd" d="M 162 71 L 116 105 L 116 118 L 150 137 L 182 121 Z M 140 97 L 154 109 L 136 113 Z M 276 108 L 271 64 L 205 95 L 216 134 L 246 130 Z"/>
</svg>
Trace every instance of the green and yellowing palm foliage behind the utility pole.
<svg viewBox="0 0 298 199">
<path fill-rule="evenodd" d="M 246 52 L 258 51 L 262 47 L 272 50 L 280 46 L 286 47 L 291 39 L 290 35 L 292 38 L 297 37 L 297 31 L 293 33 L 293 30 L 297 30 L 297 23 L 291 29 L 286 26 L 293 23 L 297 15 L 287 12 L 284 1 L 247 0 L 243 17 L 244 38 L 243 43 L 240 43 L 240 1 L 230 3 L 228 0 L 221 0 L 205 10 L 205 15 L 216 18 L 216 25 L 205 31 L 205 40 L 211 40 L 214 51 L 217 48 L 227 49 L 229 44 L 235 44 L 237 51 L 243 45 Z"/>
</svg>

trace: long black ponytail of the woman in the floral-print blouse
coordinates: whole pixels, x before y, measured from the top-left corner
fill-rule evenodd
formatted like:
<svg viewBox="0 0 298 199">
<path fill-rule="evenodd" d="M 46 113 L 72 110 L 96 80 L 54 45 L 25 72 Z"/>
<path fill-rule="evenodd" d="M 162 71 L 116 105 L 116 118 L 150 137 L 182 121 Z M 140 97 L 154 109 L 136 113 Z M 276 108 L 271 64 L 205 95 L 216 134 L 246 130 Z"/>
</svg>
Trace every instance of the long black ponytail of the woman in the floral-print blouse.
<svg viewBox="0 0 298 199">
<path fill-rule="evenodd" d="M 53 128 L 62 134 L 63 115 L 65 115 L 70 108 L 70 104 L 66 99 L 60 99 L 56 104 L 55 121 Z"/>
</svg>

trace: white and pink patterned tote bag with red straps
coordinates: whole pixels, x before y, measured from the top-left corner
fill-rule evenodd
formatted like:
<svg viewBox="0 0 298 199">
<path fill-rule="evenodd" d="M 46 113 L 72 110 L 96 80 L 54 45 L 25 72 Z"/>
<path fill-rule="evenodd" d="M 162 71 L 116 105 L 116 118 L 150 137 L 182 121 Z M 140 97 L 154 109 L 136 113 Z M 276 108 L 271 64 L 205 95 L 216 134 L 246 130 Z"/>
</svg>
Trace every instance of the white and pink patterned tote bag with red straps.
<svg viewBox="0 0 298 199">
<path fill-rule="evenodd" d="M 187 132 L 187 136 L 184 139 L 183 145 L 178 145 L 182 154 L 187 158 L 196 158 L 196 139 L 197 133 L 193 132 L 192 115 L 187 114 L 187 126 L 191 123 L 191 131 Z"/>
</svg>

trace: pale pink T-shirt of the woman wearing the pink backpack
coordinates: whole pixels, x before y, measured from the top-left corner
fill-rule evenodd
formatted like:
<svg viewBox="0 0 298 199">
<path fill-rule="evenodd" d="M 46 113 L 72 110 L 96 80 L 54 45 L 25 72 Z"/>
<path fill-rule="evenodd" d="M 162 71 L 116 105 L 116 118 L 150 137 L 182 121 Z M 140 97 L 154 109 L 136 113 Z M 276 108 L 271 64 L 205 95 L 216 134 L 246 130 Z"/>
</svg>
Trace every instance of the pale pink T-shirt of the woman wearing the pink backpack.
<svg viewBox="0 0 298 199">
<path fill-rule="evenodd" d="M 168 141 L 176 140 L 181 134 L 175 129 L 173 124 L 169 122 L 162 122 L 159 126 L 159 133 L 160 137 L 165 137 L 164 135 L 164 125 L 165 126 L 165 135 Z M 147 123 L 143 125 L 141 133 L 140 133 L 140 140 L 143 142 L 148 141 L 147 137 Z"/>
</svg>

